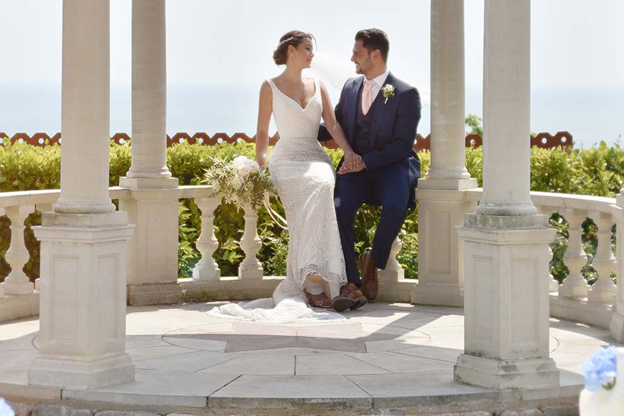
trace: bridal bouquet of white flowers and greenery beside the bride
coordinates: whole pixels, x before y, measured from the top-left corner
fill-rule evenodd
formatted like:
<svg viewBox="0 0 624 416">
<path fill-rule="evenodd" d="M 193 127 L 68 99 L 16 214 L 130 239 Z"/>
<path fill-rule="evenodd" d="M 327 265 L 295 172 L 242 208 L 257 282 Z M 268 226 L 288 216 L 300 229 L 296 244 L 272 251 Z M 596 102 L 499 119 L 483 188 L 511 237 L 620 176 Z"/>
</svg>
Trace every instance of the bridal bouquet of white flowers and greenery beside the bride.
<svg viewBox="0 0 624 416">
<path fill-rule="evenodd" d="M 211 185 L 211 196 L 222 196 L 225 203 L 237 208 L 251 205 L 257 209 L 264 200 L 265 191 L 272 190 L 268 172 L 246 156 L 231 161 L 215 157 L 214 164 L 206 170 L 203 182 Z"/>
</svg>

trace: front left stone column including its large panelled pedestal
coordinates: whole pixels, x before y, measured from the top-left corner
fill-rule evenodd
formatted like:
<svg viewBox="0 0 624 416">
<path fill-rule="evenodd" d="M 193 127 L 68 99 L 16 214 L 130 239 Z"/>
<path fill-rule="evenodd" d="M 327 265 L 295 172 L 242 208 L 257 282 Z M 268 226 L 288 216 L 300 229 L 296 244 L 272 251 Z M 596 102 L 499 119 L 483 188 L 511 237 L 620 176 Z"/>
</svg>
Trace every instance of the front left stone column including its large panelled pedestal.
<svg viewBox="0 0 624 416">
<path fill-rule="evenodd" d="M 108 196 L 109 1 L 63 1 L 61 191 L 41 241 L 39 355 L 31 385 L 134 379 L 125 352 L 125 212 Z"/>
</svg>

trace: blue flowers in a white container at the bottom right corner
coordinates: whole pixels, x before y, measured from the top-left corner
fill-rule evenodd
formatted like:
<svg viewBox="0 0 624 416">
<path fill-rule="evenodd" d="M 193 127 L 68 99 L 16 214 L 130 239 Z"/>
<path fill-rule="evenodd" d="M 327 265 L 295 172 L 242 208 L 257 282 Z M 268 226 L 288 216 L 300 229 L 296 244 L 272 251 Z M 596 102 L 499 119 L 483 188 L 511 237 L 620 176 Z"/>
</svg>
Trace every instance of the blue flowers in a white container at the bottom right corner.
<svg viewBox="0 0 624 416">
<path fill-rule="evenodd" d="M 585 388 L 579 397 L 581 416 L 624 415 L 624 382 L 618 379 L 624 372 L 624 348 L 610 346 L 592 354 L 581 366 Z M 623 379 L 624 374 L 619 374 Z"/>
</svg>

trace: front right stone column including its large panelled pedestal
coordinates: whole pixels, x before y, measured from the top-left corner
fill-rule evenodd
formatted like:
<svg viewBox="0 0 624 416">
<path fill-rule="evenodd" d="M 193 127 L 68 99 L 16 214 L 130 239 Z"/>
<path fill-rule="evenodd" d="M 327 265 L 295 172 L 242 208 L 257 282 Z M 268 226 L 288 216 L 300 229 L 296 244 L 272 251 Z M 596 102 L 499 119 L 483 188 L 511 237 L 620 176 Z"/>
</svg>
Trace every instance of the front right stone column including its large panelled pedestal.
<svg viewBox="0 0 624 416">
<path fill-rule="evenodd" d="M 483 200 L 464 241 L 465 352 L 455 380 L 556 388 L 548 357 L 548 243 L 530 199 L 530 0 L 485 0 Z"/>
</svg>

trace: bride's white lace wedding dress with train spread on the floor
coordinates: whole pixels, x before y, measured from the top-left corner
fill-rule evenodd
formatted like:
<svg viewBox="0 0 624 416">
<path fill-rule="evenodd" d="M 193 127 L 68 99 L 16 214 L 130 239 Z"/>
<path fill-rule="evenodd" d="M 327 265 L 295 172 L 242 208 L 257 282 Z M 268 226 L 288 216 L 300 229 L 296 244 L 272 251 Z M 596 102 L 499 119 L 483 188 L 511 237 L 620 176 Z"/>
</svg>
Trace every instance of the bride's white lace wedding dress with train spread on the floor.
<svg viewBox="0 0 624 416">
<path fill-rule="evenodd" d="M 270 154 L 268 166 L 288 222 L 287 276 L 272 297 L 226 304 L 209 311 L 209 315 L 259 322 L 344 320 L 338 313 L 311 309 L 304 294 L 309 275 L 320 275 L 327 281 L 331 298 L 347 283 L 333 206 L 336 171 L 317 140 L 323 110 L 320 85 L 315 79 L 315 94 L 302 108 L 272 80 L 268 83 L 279 131 L 279 141 Z"/>
</svg>

